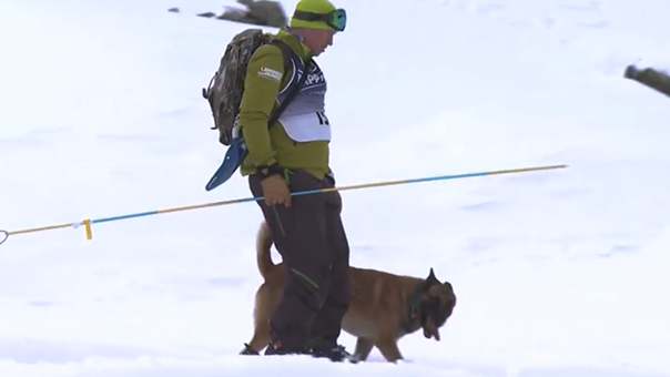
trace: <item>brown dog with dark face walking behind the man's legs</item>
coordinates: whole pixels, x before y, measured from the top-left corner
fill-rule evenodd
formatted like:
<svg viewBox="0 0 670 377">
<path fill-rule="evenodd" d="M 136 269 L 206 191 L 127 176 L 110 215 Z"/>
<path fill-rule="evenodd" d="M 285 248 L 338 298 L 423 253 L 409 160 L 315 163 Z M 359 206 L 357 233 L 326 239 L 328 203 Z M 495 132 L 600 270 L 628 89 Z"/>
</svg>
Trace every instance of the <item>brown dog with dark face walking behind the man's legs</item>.
<svg viewBox="0 0 670 377">
<path fill-rule="evenodd" d="M 256 234 L 256 263 L 264 283 L 256 291 L 254 336 L 241 354 L 257 355 L 270 343 L 268 320 L 284 285 L 282 264 L 274 264 L 267 224 Z M 451 284 L 440 283 L 430 268 L 427 278 L 398 276 L 375 269 L 349 267 L 352 302 L 343 329 L 357 337 L 354 356 L 367 359 L 377 347 L 388 361 L 403 359 L 398 339 L 423 328 L 426 338 L 439 342 L 439 328 L 456 306 Z"/>
</svg>

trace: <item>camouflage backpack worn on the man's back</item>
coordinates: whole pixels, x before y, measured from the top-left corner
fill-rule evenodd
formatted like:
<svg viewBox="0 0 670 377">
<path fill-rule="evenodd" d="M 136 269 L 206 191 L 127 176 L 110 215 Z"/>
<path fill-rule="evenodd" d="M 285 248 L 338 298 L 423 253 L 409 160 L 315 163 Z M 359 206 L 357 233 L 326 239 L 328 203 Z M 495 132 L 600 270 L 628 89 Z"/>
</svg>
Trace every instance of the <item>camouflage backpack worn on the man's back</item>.
<svg viewBox="0 0 670 377">
<path fill-rule="evenodd" d="M 263 44 L 275 44 L 282 50 L 286 72 L 291 67 L 291 48 L 261 29 L 246 29 L 233 37 L 209 86 L 202 90 L 202 96 L 210 102 L 214 118 L 212 130 L 219 130 L 219 141 L 224 145 L 231 145 L 234 137 L 246 65 L 254 51 Z"/>
</svg>

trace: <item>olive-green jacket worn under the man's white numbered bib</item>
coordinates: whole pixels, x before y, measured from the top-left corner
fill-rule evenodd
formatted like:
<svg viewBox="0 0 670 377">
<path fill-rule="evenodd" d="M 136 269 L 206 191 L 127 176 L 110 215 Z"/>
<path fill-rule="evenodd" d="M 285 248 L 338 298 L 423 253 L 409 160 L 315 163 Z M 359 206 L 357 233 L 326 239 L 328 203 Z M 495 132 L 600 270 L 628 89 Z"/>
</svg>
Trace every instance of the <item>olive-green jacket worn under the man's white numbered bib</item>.
<svg viewBox="0 0 670 377">
<path fill-rule="evenodd" d="M 276 38 L 304 61 L 311 58 L 311 50 L 296 35 L 280 30 Z M 319 180 L 331 173 L 327 141 L 293 141 L 278 122 L 267 128 L 270 113 L 277 106 L 277 93 L 291 77 L 292 69 L 284 72 L 284 58 L 278 47 L 265 44 L 252 54 L 240 104 L 240 125 L 248 151 L 240 166 L 243 176 L 254 173 L 256 166 L 275 162 L 290 170 L 305 170 Z"/>
</svg>

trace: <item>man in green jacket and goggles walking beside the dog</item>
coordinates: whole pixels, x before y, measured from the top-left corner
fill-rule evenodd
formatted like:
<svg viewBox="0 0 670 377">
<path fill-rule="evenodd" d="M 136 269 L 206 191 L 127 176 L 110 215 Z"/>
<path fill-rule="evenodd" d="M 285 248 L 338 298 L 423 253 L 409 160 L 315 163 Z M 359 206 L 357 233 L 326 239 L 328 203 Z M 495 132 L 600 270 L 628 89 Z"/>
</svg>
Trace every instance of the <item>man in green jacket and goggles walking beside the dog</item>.
<svg viewBox="0 0 670 377">
<path fill-rule="evenodd" d="M 337 345 L 348 309 L 349 247 L 337 192 L 291 196 L 291 192 L 333 187 L 331 124 L 325 115 L 326 80 L 312 58 L 333 44 L 346 13 L 328 0 L 301 0 L 288 28 L 275 35 L 291 48 L 284 71 L 282 50 L 258 48 L 248 62 L 240 125 L 248 151 L 241 173 L 258 201 L 286 269 L 283 298 L 271 319 L 265 355 L 311 353 L 344 358 Z M 308 64 L 304 84 L 268 129 L 268 116 Z M 300 73 L 300 74 L 298 74 Z"/>
</svg>

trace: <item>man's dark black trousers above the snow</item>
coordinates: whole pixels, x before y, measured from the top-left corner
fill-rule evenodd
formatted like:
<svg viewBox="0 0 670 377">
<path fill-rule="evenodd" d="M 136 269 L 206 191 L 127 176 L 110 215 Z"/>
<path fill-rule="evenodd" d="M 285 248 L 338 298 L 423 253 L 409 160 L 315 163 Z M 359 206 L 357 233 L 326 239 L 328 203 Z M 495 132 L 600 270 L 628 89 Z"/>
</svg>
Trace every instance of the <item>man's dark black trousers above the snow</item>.
<svg viewBox="0 0 670 377">
<path fill-rule="evenodd" d="M 263 196 L 261 179 L 251 175 L 254 196 Z M 304 171 L 288 175 L 291 192 L 332 187 Z M 335 343 L 349 305 L 349 247 L 336 191 L 293 196 L 291 207 L 258 205 L 286 273 L 284 292 L 271 318 L 272 342 L 303 349 L 312 338 Z"/>
</svg>

